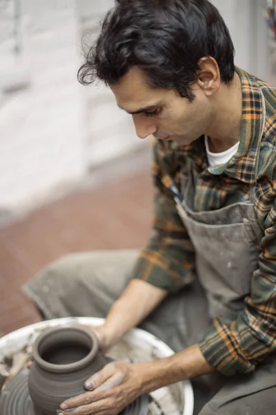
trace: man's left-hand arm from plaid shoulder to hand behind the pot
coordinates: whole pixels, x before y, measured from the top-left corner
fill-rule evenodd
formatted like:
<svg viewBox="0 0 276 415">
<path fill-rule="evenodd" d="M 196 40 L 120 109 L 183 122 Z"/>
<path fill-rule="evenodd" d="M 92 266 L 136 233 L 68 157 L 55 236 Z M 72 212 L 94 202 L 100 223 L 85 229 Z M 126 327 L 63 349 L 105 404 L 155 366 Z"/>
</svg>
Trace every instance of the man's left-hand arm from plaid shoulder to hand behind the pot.
<svg viewBox="0 0 276 415">
<path fill-rule="evenodd" d="M 171 183 L 179 187 L 179 167 L 173 150 L 166 150 L 165 162 L 162 151 L 164 143 L 156 140 L 153 232 L 132 271 L 129 286 L 112 306 L 104 327 L 96 329 L 103 348 L 144 320 L 168 292 L 177 292 L 195 279 L 193 246 L 177 213 L 174 194 L 168 190 Z"/>
</svg>

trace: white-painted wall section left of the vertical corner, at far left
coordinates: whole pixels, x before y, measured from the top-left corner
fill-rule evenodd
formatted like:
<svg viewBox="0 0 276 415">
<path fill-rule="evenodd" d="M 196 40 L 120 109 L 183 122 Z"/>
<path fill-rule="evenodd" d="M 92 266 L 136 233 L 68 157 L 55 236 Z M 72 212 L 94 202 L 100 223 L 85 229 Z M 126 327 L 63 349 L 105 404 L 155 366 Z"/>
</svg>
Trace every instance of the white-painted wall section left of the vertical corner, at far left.
<svg viewBox="0 0 276 415">
<path fill-rule="evenodd" d="M 14 59 L 12 37 L 0 44 L 2 88 L 18 77 L 29 82 L 4 95 L 0 107 L 0 212 L 37 205 L 86 172 L 75 1 L 65 7 L 24 0 L 21 6 L 22 55 Z"/>
</svg>

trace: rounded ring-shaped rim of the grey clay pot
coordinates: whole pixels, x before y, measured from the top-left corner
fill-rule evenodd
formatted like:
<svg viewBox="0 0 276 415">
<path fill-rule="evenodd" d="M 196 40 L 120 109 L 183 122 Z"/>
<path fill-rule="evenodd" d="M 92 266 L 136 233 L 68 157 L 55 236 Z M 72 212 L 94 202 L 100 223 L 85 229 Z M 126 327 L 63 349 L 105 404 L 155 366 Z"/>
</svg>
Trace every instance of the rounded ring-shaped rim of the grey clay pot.
<svg viewBox="0 0 276 415">
<path fill-rule="evenodd" d="M 47 362 L 43 358 L 41 358 L 39 354 L 39 346 L 41 342 L 43 342 L 44 338 L 46 338 L 47 335 L 50 335 L 52 333 L 56 333 L 58 331 L 80 331 L 81 333 L 84 333 L 88 336 L 88 338 L 91 340 L 92 348 L 88 355 L 86 355 L 83 359 L 77 360 L 77 362 L 69 363 L 67 365 L 55 365 L 54 363 Z M 81 369 L 83 367 L 86 367 L 87 365 L 94 360 L 97 352 L 99 351 L 99 342 L 97 339 L 97 336 L 95 333 L 93 333 L 91 330 L 84 326 L 78 326 L 70 324 L 68 326 L 62 326 L 62 327 L 54 327 L 51 329 L 47 329 L 39 335 L 39 337 L 34 340 L 34 343 L 32 345 L 32 357 L 34 358 L 34 362 L 37 363 L 39 367 L 46 371 L 54 371 L 58 373 L 66 373 L 68 371 L 74 371 L 75 369 Z"/>
</svg>

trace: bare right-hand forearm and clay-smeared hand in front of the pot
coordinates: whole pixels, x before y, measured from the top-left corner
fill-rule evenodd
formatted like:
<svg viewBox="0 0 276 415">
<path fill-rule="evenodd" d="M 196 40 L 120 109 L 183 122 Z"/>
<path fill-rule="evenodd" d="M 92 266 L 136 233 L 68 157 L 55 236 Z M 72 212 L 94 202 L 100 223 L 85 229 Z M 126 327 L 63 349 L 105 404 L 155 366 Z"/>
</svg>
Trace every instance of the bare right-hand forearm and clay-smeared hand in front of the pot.
<svg viewBox="0 0 276 415">
<path fill-rule="evenodd" d="M 110 363 L 86 381 L 92 390 L 66 400 L 59 414 L 117 415 L 142 394 L 213 371 L 197 344 L 152 362 Z"/>
</svg>

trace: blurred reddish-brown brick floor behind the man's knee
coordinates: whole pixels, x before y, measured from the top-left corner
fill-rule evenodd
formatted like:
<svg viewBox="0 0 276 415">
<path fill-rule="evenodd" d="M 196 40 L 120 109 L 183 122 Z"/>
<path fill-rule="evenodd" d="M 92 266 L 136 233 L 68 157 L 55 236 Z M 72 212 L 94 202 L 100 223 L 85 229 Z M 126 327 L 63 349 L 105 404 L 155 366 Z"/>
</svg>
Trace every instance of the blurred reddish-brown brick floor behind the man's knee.
<svg viewBox="0 0 276 415">
<path fill-rule="evenodd" d="M 50 261 L 69 252 L 143 246 L 151 199 L 146 171 L 72 194 L 0 229 L 0 335 L 39 320 L 21 286 Z"/>
</svg>

